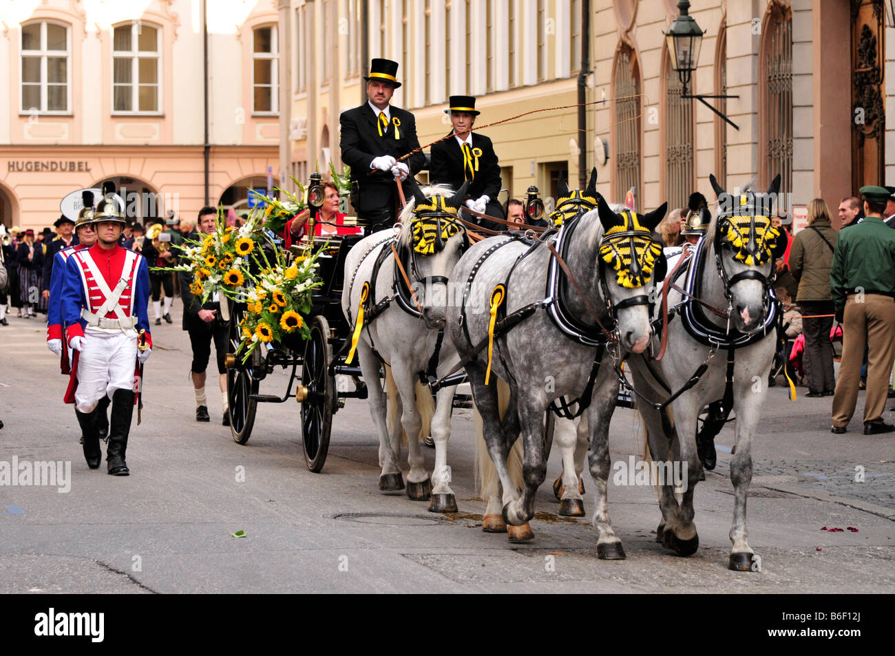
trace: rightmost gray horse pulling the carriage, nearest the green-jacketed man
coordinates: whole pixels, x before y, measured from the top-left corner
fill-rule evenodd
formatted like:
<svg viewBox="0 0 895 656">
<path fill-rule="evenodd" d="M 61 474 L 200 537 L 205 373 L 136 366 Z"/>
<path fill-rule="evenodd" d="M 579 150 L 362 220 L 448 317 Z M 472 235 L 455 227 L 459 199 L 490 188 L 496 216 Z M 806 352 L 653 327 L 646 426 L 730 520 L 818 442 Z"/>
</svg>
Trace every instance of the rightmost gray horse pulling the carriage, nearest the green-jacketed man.
<svg viewBox="0 0 895 656">
<path fill-rule="evenodd" d="M 697 446 L 697 417 L 705 405 L 720 403 L 723 413 L 720 422 L 713 418 L 715 432 L 731 409 L 737 417 L 730 462 L 734 519 L 729 567 L 760 570 L 761 561 L 746 542 L 746 491 L 752 481 L 752 439 L 777 344 L 773 260 L 783 254 L 788 240 L 786 233 L 771 226 L 770 209 L 780 176 L 766 194 L 729 194 L 714 176 L 710 179 L 718 194 L 718 212 L 695 249 L 679 256 L 688 259 L 680 269 L 686 275 L 675 276 L 675 285 L 687 296 L 671 286 L 667 290 L 671 316 L 667 350 L 661 360 L 644 353 L 629 358 L 629 364 L 637 395 L 646 401 L 637 405 L 657 469 L 667 471 L 669 464 L 677 463 L 682 471 L 686 465 L 686 490 L 680 504 L 671 482 L 659 481 L 662 521 L 657 539 L 682 556 L 699 546 L 693 494 L 703 478 L 703 464 L 714 466 L 714 446 L 713 436 L 706 440 L 704 430 L 700 433 L 703 447 Z M 676 261 L 669 260 L 669 269 L 676 266 Z M 656 318 L 662 319 L 658 304 Z M 687 381 L 701 370 L 698 382 L 687 387 Z M 671 412 L 656 407 L 669 400 Z"/>
</svg>

